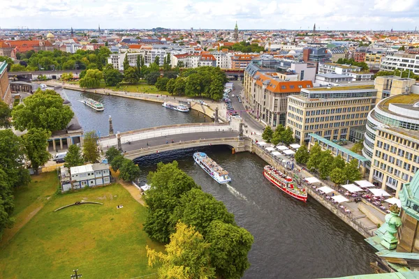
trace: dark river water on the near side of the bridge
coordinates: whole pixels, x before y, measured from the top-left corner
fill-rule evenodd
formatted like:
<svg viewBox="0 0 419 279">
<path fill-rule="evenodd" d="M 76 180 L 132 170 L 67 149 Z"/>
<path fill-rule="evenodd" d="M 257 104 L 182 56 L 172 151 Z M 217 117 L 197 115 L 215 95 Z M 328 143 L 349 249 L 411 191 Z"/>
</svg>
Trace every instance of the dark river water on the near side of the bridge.
<svg viewBox="0 0 419 279">
<path fill-rule="evenodd" d="M 141 184 L 156 163 L 177 160 L 187 174 L 226 204 L 238 225 L 255 237 L 244 278 L 326 278 L 372 273 L 375 255 L 363 237 L 314 199 L 288 197 L 263 177 L 265 161 L 231 154 L 226 146 L 199 149 L 224 167 L 233 181 L 219 185 L 193 162 L 193 152 L 159 153 L 136 160 Z"/>
</svg>

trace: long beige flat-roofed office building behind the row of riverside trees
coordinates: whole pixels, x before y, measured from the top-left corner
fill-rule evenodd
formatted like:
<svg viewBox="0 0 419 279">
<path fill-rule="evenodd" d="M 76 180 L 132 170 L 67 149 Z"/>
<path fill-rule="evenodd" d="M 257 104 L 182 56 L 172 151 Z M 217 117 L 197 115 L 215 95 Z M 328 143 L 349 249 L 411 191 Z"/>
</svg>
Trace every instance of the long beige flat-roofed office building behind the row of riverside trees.
<svg viewBox="0 0 419 279">
<path fill-rule="evenodd" d="M 376 103 L 377 90 L 371 85 L 302 89 L 288 96 L 286 126 L 300 144 L 315 133 L 326 140 L 349 140 L 351 128 L 367 123 Z"/>
</svg>

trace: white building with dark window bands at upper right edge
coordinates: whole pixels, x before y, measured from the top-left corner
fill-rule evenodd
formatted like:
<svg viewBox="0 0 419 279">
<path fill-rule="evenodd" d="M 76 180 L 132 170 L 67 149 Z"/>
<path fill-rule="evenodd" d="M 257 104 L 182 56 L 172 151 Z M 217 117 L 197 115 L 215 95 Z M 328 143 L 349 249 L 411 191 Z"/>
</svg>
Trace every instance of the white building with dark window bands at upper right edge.
<svg viewBox="0 0 419 279">
<path fill-rule="evenodd" d="M 389 53 L 381 59 L 380 70 L 395 69 L 419 75 L 419 54 Z"/>
</svg>

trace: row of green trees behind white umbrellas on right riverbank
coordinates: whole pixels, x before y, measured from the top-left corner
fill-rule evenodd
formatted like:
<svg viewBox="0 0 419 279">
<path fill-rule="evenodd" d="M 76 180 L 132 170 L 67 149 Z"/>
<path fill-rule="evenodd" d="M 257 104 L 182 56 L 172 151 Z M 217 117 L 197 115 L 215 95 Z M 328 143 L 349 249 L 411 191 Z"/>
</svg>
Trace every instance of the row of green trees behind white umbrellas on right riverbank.
<svg viewBox="0 0 419 279">
<path fill-rule="evenodd" d="M 302 145 L 295 153 L 295 162 L 307 165 L 311 172 L 318 172 L 321 179 L 330 178 L 337 186 L 362 178 L 357 159 L 346 163 L 340 155 L 333 157 L 330 150 L 322 151 L 318 142 L 310 151 L 305 144 Z"/>
</svg>

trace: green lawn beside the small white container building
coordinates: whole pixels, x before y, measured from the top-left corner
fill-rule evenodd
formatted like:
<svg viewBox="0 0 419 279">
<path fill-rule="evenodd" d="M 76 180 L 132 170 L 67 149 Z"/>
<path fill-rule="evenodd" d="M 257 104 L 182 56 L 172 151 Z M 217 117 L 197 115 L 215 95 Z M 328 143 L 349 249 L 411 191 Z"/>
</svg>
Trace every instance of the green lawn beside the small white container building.
<svg viewBox="0 0 419 279">
<path fill-rule="evenodd" d="M 38 181 L 17 193 L 17 216 L 34 207 L 38 197 L 56 190 L 51 177 Z M 84 204 L 53 212 L 81 200 L 103 205 Z M 43 198 L 41 202 L 45 202 Z M 124 208 L 117 209 L 118 204 Z M 119 184 L 54 194 L 1 247 L 0 278 L 69 278 L 73 269 L 79 269 L 83 278 L 134 278 L 155 273 L 156 269 L 147 265 L 145 246 L 157 250 L 163 246 L 143 232 L 145 211 Z"/>
</svg>

